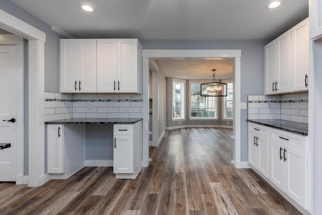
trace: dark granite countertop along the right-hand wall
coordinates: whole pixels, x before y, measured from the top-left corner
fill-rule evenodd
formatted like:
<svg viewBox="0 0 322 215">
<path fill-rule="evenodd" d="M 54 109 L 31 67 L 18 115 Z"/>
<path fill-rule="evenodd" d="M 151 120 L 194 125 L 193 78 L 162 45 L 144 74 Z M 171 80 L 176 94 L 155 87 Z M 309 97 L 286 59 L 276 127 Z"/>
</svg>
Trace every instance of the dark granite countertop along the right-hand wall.
<svg viewBox="0 0 322 215">
<path fill-rule="evenodd" d="M 272 128 L 289 131 L 292 133 L 307 136 L 307 123 L 288 121 L 283 119 L 248 119 L 248 122 L 257 123 L 260 125 L 266 125 Z"/>
</svg>

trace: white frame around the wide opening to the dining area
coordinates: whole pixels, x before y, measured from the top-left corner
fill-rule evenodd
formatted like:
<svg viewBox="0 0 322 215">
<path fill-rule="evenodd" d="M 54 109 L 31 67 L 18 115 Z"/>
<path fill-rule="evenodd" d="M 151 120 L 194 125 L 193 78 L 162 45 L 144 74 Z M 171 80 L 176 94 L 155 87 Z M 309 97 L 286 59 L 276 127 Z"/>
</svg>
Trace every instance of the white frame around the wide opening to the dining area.
<svg viewBox="0 0 322 215">
<path fill-rule="evenodd" d="M 148 166 L 149 141 L 148 141 L 148 119 L 149 119 L 149 58 L 232 58 L 233 66 L 233 160 L 231 163 L 235 168 L 243 168 L 240 151 L 240 49 L 143 49 L 142 50 L 142 76 L 143 76 L 143 167 Z"/>
</svg>

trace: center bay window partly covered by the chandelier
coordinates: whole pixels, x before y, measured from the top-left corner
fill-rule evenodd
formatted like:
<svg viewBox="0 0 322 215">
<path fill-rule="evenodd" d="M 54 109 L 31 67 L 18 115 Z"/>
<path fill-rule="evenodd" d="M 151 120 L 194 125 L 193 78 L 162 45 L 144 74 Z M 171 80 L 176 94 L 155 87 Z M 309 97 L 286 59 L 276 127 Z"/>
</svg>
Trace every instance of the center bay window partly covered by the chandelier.
<svg viewBox="0 0 322 215">
<path fill-rule="evenodd" d="M 216 119 L 217 97 L 200 96 L 202 81 L 190 82 L 190 118 Z"/>
</svg>

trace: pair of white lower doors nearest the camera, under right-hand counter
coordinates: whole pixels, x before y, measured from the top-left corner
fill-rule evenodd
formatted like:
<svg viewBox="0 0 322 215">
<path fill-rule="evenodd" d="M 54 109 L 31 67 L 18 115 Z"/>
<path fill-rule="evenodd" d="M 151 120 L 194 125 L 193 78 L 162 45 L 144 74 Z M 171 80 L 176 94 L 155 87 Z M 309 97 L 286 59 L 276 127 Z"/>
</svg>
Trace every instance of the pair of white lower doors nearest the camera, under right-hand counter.
<svg viewBox="0 0 322 215">
<path fill-rule="evenodd" d="M 270 180 L 306 208 L 307 154 L 271 140 L 270 155 Z"/>
</svg>

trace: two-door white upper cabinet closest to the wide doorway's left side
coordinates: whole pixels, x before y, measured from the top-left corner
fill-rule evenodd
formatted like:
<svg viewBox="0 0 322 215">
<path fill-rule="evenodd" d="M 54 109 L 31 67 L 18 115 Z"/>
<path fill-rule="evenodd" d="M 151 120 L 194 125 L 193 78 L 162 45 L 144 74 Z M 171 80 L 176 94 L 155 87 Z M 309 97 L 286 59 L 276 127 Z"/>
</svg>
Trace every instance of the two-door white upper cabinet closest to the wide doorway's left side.
<svg viewBox="0 0 322 215">
<path fill-rule="evenodd" d="M 142 93 L 138 39 L 98 39 L 97 50 L 97 92 Z"/>
</svg>

